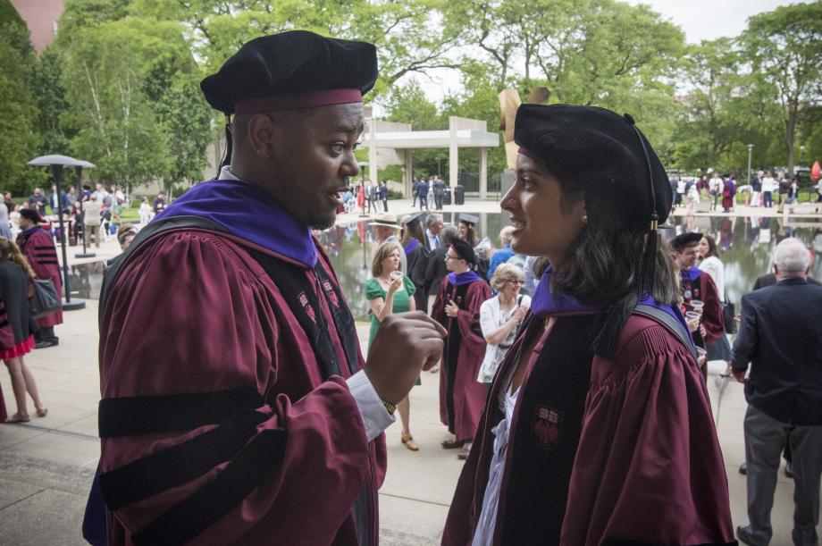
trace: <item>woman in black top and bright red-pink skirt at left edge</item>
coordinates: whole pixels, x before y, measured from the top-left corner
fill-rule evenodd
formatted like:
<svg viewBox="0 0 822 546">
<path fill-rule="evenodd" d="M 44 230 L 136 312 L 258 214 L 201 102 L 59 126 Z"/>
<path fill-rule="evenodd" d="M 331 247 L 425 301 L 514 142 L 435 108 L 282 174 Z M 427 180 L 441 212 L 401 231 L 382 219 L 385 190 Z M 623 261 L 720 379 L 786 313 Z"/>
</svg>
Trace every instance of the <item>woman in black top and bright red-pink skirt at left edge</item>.
<svg viewBox="0 0 822 546">
<path fill-rule="evenodd" d="M 0 325 L 11 326 L 13 335 L 0 338 L 0 359 L 12 378 L 17 413 L 6 423 L 30 421 L 26 393 L 34 402 L 35 413 L 45 417 L 48 409 L 40 399 L 37 382 L 23 357 L 34 348 L 34 323 L 29 316 L 29 279 L 35 276 L 28 260 L 13 241 L 0 237 Z"/>
</svg>

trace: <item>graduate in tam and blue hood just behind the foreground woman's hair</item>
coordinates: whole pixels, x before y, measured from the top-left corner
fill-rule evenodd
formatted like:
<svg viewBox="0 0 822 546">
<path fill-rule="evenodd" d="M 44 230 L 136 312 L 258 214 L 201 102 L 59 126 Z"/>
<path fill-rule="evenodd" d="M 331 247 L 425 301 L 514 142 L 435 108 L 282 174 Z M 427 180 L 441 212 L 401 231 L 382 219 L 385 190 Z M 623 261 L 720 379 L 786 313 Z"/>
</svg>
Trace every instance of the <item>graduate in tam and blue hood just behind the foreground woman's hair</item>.
<svg viewBox="0 0 822 546">
<path fill-rule="evenodd" d="M 680 271 L 680 288 L 686 311 L 700 313 L 700 329 L 693 334 L 693 341 L 702 349 L 725 335 L 725 319 L 717 285 L 710 275 L 696 265 L 700 259 L 701 233 L 686 232 L 671 241 L 676 266 Z M 692 301 L 696 300 L 703 305 Z"/>
</svg>

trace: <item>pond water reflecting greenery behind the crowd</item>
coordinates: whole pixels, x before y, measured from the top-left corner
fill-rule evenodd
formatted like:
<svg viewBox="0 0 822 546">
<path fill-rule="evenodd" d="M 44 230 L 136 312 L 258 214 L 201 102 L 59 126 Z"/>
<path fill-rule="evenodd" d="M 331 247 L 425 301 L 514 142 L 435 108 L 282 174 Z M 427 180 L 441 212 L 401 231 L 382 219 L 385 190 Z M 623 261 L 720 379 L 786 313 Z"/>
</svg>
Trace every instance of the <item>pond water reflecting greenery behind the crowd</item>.
<svg viewBox="0 0 822 546">
<path fill-rule="evenodd" d="M 480 216 L 478 232 L 488 236 L 495 247 L 499 246 L 497 235 L 507 224 L 505 215 L 473 214 Z M 453 223 L 457 214 L 443 216 L 446 223 Z M 734 302 L 751 290 L 759 275 L 772 270 L 773 250 L 787 237 L 796 237 L 811 249 L 810 274 L 822 281 L 822 223 L 817 219 L 698 216 L 676 217 L 671 223 L 675 228 L 667 231 L 669 237 L 688 230 L 709 233 L 717 239 L 719 259 L 725 264 L 726 288 Z M 331 257 L 352 313 L 357 319 L 365 320 L 368 311 L 365 281 L 371 276 L 371 252 L 376 245 L 371 226 L 366 222 L 338 225 L 323 231 L 320 242 Z M 72 265 L 70 273 L 72 297 L 99 298 L 103 262 Z"/>
</svg>

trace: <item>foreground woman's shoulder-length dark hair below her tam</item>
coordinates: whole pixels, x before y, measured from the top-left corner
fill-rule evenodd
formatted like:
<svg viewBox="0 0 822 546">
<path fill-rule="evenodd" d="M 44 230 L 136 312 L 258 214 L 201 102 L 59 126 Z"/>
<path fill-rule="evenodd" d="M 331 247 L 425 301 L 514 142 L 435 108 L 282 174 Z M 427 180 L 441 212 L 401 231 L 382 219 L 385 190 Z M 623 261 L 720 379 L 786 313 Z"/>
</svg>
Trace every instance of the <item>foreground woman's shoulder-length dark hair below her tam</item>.
<svg viewBox="0 0 822 546">
<path fill-rule="evenodd" d="M 606 181 L 552 174 L 562 189 L 560 208 L 569 212 L 575 201 L 583 198 L 588 223 L 571 244 L 561 269 L 551 273 L 551 290 L 581 303 L 602 305 L 591 331 L 591 347 L 603 357 L 613 357 L 625 322 L 646 292 L 645 239 L 657 237 L 650 295 L 660 304 L 678 303 L 679 276 L 674 259 L 658 232 L 649 234 L 632 214 L 625 213 L 619 189 L 608 190 Z"/>
</svg>

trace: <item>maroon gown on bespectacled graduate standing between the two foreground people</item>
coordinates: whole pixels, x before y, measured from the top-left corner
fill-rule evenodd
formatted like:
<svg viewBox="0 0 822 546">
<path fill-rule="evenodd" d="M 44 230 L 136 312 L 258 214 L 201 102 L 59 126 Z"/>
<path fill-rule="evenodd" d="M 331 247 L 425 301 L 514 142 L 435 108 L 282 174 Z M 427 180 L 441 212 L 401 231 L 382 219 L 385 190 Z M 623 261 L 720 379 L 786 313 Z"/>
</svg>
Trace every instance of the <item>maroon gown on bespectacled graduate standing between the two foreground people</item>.
<svg viewBox="0 0 822 546">
<path fill-rule="evenodd" d="M 458 292 L 465 294 L 457 295 Z M 477 382 L 476 378 L 487 347 L 479 326 L 480 307 L 490 298 L 491 289 L 482 279 L 471 282 L 467 287 L 456 286 L 446 275 L 431 311 L 432 318 L 449 331 L 440 365 L 440 420 L 457 440 L 474 438 L 485 404 L 485 385 Z M 456 320 L 445 314 L 449 299 L 453 299 L 459 307 Z M 451 345 L 455 342 L 454 332 L 459 337 L 458 349 Z M 455 353 L 458 355 L 457 362 L 449 361 L 449 354 Z M 449 381 L 449 375 L 454 378 L 453 382 Z M 449 403 L 453 405 L 453 422 L 449 419 Z"/>
</svg>

